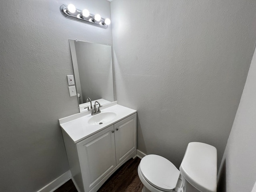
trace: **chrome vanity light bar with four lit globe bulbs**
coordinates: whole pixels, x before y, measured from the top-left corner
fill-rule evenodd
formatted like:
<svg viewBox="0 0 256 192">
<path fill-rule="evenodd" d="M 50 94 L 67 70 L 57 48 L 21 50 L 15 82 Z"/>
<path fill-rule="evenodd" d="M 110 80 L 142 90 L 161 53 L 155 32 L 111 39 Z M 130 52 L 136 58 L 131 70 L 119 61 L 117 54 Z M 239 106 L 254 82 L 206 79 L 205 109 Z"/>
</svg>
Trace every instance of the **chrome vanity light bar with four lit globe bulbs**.
<svg viewBox="0 0 256 192">
<path fill-rule="evenodd" d="M 110 19 L 104 19 L 99 14 L 90 14 L 87 9 L 78 10 L 72 4 L 69 4 L 68 6 L 60 6 L 60 12 L 64 17 L 68 19 L 83 22 L 104 29 L 108 28 L 108 25 L 110 24 Z"/>
</svg>

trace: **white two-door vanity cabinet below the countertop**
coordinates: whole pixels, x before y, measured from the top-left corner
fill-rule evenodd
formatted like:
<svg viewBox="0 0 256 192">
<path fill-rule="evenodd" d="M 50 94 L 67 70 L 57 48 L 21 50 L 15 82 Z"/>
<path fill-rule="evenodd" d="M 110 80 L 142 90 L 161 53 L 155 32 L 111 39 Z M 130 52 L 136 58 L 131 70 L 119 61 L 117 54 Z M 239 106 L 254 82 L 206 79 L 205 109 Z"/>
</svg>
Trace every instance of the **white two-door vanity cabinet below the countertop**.
<svg viewBox="0 0 256 192">
<path fill-rule="evenodd" d="M 77 143 L 62 130 L 78 192 L 96 192 L 122 164 L 136 156 L 136 132 L 137 113 Z"/>
</svg>

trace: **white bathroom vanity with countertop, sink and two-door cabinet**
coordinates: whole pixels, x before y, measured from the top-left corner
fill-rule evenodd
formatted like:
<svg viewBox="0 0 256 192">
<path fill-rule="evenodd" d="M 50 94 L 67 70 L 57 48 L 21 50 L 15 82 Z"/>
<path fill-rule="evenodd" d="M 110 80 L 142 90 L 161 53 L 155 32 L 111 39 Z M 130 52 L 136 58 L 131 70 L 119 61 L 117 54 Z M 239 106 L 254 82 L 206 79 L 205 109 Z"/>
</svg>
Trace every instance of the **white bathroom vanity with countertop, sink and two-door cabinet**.
<svg viewBox="0 0 256 192">
<path fill-rule="evenodd" d="M 96 192 L 127 160 L 136 156 L 137 112 L 117 102 L 59 120 L 72 180 L 79 192 Z"/>
</svg>

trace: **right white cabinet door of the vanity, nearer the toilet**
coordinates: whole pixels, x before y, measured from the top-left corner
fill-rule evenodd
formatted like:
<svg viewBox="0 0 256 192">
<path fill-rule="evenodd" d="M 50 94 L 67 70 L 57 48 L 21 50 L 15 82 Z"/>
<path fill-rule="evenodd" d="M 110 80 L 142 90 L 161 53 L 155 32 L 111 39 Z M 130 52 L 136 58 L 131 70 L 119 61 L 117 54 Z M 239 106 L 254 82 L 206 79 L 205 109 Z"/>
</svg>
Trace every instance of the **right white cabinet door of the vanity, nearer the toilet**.
<svg viewBox="0 0 256 192">
<path fill-rule="evenodd" d="M 137 114 L 114 124 L 116 144 L 116 164 L 137 148 Z"/>
</svg>

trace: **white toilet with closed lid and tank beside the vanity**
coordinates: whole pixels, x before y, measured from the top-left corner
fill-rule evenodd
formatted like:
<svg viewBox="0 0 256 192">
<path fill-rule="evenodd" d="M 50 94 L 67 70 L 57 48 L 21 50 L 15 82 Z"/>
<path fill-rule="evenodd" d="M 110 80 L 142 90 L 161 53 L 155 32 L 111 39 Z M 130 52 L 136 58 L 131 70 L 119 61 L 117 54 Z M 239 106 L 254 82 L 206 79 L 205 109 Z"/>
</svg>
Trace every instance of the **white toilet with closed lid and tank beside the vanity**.
<svg viewBox="0 0 256 192">
<path fill-rule="evenodd" d="M 138 175 L 142 192 L 216 192 L 217 150 L 205 143 L 189 143 L 180 171 L 166 158 L 147 155 L 140 161 Z"/>
</svg>

